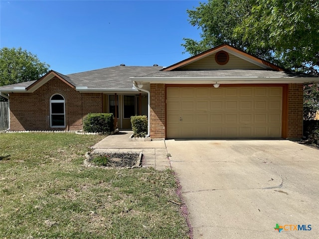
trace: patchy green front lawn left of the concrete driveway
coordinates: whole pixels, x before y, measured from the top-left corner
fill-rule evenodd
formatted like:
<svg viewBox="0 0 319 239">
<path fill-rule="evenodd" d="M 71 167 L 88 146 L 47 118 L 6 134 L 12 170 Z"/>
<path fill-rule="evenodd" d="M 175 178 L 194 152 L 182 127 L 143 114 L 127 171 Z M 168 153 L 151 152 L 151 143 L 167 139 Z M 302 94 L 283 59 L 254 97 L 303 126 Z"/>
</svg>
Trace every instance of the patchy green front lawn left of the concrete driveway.
<svg viewBox="0 0 319 239">
<path fill-rule="evenodd" d="M 0 238 L 189 238 L 171 171 L 82 165 L 102 138 L 0 134 Z"/>
</svg>

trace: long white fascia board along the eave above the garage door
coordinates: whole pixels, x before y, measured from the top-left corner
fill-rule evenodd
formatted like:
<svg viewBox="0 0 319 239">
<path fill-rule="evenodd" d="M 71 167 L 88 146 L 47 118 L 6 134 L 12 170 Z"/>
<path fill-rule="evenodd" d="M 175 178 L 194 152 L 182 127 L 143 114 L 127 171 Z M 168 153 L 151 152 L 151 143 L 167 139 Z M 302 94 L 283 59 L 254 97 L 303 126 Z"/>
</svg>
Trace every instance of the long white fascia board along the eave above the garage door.
<svg viewBox="0 0 319 239">
<path fill-rule="evenodd" d="M 319 82 L 318 77 L 134 77 L 132 80 L 159 84 L 211 84 L 216 81 L 220 84 L 301 84 Z"/>
</svg>

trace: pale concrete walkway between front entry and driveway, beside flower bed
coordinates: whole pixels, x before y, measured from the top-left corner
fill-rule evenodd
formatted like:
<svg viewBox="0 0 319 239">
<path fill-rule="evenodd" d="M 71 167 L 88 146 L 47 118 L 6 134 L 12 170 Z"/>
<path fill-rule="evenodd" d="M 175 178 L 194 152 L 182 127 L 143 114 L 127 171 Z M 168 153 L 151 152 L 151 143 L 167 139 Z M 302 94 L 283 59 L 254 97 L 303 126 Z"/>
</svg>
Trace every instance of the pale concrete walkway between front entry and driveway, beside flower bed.
<svg viewBox="0 0 319 239">
<path fill-rule="evenodd" d="M 142 152 L 142 166 L 157 170 L 171 168 L 164 140 L 129 141 L 132 131 L 119 131 L 94 146 L 95 152 Z"/>
</svg>

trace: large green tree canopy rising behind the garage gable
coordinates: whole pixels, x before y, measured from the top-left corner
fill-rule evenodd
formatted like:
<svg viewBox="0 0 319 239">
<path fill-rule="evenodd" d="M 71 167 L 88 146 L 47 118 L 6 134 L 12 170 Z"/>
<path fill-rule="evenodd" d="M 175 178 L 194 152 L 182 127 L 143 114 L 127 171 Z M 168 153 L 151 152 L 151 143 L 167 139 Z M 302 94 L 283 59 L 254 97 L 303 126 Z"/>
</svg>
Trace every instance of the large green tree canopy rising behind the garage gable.
<svg viewBox="0 0 319 239">
<path fill-rule="evenodd" d="M 280 67 L 319 74 L 318 0 L 208 0 L 187 10 L 200 41 L 184 38 L 191 55 L 228 43 Z"/>
</svg>

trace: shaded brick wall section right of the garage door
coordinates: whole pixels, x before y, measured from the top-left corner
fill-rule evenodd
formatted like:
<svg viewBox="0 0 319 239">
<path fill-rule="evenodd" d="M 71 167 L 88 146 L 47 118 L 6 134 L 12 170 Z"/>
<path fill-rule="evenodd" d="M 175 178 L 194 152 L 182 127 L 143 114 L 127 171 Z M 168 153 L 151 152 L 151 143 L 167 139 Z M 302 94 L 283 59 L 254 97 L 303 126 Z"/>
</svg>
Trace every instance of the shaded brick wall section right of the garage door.
<svg viewBox="0 0 319 239">
<path fill-rule="evenodd" d="M 288 138 L 301 138 L 303 136 L 303 97 L 303 84 L 289 84 L 287 119 Z"/>
</svg>

